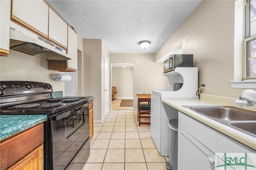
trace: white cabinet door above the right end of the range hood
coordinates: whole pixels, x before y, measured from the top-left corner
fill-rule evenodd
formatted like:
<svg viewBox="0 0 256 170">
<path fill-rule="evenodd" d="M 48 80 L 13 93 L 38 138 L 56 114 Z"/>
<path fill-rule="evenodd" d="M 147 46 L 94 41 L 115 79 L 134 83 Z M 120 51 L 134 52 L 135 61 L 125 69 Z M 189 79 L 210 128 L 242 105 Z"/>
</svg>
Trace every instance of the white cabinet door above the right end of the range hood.
<svg viewBox="0 0 256 170">
<path fill-rule="evenodd" d="M 68 24 L 49 8 L 49 39 L 68 47 Z"/>
</svg>

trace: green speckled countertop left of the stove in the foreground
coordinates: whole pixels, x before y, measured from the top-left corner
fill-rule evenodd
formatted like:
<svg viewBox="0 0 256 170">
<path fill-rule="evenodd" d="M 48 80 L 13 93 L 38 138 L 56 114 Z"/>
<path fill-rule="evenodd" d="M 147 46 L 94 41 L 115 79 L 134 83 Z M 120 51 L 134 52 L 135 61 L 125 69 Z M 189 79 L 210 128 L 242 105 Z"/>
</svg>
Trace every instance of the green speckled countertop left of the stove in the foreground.
<svg viewBox="0 0 256 170">
<path fill-rule="evenodd" d="M 0 115 L 0 141 L 47 120 L 47 115 Z"/>
</svg>

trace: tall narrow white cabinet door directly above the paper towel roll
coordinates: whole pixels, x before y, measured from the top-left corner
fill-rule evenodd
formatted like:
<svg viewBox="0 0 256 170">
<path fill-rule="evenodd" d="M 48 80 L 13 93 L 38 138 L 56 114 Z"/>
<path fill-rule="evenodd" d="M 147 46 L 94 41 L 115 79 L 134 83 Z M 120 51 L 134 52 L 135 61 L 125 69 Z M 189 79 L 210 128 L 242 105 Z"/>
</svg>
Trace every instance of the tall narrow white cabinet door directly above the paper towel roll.
<svg viewBox="0 0 256 170">
<path fill-rule="evenodd" d="M 77 70 L 77 33 L 68 26 L 68 55 L 71 60 L 68 60 L 68 67 Z"/>
</svg>

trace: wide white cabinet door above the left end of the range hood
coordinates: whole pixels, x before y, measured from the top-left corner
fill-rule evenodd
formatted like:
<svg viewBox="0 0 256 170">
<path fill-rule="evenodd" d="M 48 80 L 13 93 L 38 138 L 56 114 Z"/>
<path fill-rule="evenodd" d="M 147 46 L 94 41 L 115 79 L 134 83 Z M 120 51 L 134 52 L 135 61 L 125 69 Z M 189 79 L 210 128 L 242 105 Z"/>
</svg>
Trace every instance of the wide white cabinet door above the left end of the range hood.
<svg viewBox="0 0 256 170">
<path fill-rule="evenodd" d="M 43 0 L 12 0 L 12 18 L 22 25 L 48 36 L 49 6 Z"/>
</svg>

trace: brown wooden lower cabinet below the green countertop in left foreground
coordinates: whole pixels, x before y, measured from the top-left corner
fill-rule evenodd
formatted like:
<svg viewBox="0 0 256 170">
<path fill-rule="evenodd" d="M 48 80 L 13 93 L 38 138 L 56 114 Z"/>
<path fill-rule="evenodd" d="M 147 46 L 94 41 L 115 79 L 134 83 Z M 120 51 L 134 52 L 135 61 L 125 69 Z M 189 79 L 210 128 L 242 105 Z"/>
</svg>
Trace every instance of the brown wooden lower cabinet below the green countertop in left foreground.
<svg viewBox="0 0 256 170">
<path fill-rule="evenodd" d="M 0 170 L 44 169 L 44 124 L 0 143 Z"/>
</svg>

